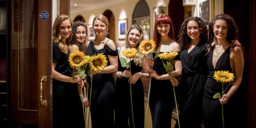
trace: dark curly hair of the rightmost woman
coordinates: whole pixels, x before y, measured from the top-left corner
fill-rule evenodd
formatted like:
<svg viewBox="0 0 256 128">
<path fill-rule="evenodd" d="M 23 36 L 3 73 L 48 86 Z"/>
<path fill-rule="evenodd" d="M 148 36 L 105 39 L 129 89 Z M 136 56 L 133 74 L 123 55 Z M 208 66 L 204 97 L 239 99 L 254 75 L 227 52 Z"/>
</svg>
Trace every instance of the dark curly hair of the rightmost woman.
<svg viewBox="0 0 256 128">
<path fill-rule="evenodd" d="M 237 29 L 237 25 L 236 22 L 234 21 L 234 19 L 227 14 L 219 14 L 216 15 L 213 20 L 211 22 L 209 22 L 209 33 L 208 33 L 208 38 L 209 38 L 209 44 L 212 43 L 212 41 L 214 41 L 215 36 L 214 36 L 214 24 L 216 22 L 216 20 L 225 20 L 227 22 L 227 26 L 228 26 L 228 31 L 227 31 L 227 40 L 229 43 L 234 42 L 234 40 L 238 40 L 238 29 Z"/>
</svg>

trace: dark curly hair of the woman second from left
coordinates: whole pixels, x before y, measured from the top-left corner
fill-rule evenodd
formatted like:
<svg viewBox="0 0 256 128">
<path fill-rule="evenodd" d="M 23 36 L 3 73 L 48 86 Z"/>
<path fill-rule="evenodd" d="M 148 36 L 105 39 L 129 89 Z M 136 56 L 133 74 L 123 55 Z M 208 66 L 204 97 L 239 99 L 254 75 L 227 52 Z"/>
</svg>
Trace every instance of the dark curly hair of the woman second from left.
<svg viewBox="0 0 256 128">
<path fill-rule="evenodd" d="M 86 36 L 85 36 L 85 40 L 84 40 L 83 44 L 79 43 L 76 40 L 76 29 L 77 29 L 78 26 L 84 26 L 85 31 L 86 31 Z M 70 44 L 76 44 L 79 47 L 79 51 L 84 51 L 85 50 L 85 43 L 88 40 L 88 28 L 87 28 L 86 24 L 84 22 L 81 22 L 81 21 L 73 22 L 72 33 L 73 33 L 73 36 L 72 36 L 72 40 L 71 40 Z"/>
</svg>

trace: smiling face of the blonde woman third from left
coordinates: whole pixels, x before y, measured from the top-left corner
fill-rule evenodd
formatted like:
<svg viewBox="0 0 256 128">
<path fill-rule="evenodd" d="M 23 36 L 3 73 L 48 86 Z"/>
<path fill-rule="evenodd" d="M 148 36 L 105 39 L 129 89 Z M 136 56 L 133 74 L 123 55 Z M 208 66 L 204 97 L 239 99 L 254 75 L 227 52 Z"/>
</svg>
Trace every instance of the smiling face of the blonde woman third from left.
<svg viewBox="0 0 256 128">
<path fill-rule="evenodd" d="M 93 30 L 95 35 L 104 35 L 107 31 L 107 26 L 106 24 L 104 24 L 104 22 L 100 21 L 100 20 L 95 20 L 94 24 L 93 24 Z"/>
</svg>

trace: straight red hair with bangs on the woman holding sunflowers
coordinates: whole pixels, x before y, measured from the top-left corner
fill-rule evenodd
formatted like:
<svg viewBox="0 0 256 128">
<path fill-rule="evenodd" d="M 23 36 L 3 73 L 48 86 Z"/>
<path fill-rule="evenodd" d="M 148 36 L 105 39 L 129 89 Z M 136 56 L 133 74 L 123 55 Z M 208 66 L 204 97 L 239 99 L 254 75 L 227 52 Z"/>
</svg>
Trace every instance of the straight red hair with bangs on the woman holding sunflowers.
<svg viewBox="0 0 256 128">
<path fill-rule="evenodd" d="M 170 32 L 168 33 L 168 36 L 173 40 L 175 40 L 172 19 L 166 14 L 159 14 L 155 20 L 154 33 L 153 33 L 154 34 L 153 40 L 156 42 L 156 49 L 158 49 L 159 47 L 160 37 L 161 37 L 161 35 L 157 31 L 157 26 L 159 24 L 170 24 Z"/>
</svg>

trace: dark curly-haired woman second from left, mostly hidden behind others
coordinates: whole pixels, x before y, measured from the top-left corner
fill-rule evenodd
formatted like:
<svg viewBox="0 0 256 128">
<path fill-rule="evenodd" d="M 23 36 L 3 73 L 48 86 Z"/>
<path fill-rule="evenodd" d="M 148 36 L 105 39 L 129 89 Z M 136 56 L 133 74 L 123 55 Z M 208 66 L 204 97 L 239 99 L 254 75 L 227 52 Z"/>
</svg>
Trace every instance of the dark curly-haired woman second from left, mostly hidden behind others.
<svg viewBox="0 0 256 128">
<path fill-rule="evenodd" d="M 85 44 L 88 38 L 87 26 L 84 22 L 76 21 L 72 24 L 73 37 L 69 45 L 70 52 L 82 51 L 85 52 Z M 73 69 L 75 72 L 76 70 Z M 88 99 L 86 97 L 86 91 L 82 91 L 81 86 L 77 86 L 81 102 L 83 102 L 84 108 L 89 106 Z"/>
</svg>

